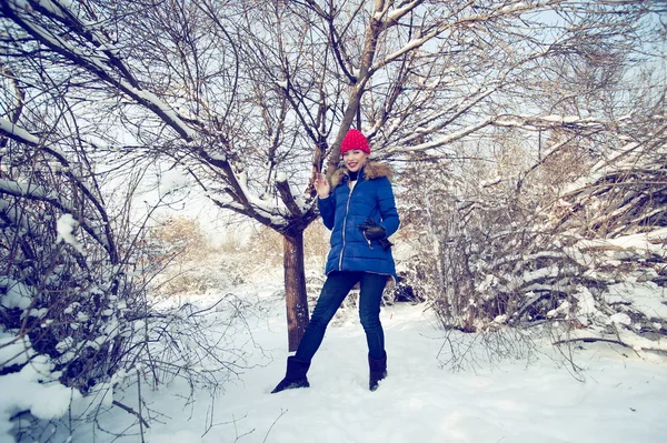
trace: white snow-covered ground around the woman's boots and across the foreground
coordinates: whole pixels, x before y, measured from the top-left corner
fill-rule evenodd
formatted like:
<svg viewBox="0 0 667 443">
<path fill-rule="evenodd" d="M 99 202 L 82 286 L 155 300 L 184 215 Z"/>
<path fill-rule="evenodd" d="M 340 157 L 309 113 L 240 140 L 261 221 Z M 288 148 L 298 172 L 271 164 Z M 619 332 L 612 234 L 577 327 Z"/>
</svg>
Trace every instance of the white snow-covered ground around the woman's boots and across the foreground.
<svg viewBox="0 0 667 443">
<path fill-rule="evenodd" d="M 576 363 L 577 381 L 547 345 L 541 356 L 480 365 L 475 371 L 441 369 L 436 358 L 444 332 L 424 305 L 382 310 L 389 376 L 377 392 L 368 391 L 366 341 L 348 312 L 335 321 L 315 356 L 310 389 L 270 394 L 285 373 L 287 333 L 280 281 L 256 282 L 238 295 L 265 308 L 247 316 L 249 330 L 235 338 L 247 344 L 249 370 L 225 385 L 211 401 L 201 393 L 187 403 L 186 386 L 143 392 L 150 407 L 165 416 L 147 430 L 148 442 L 317 442 L 317 443 L 565 443 L 664 442 L 667 435 L 665 360 L 639 358 L 607 344 L 585 344 Z M 197 303 L 215 302 L 211 294 Z M 191 301 L 193 301 L 192 298 Z M 442 350 L 441 359 L 447 358 Z M 544 354 L 541 353 L 544 352 Z M 551 356 L 549 356 L 551 354 Z M 116 393 L 131 404 L 136 390 Z M 125 430 L 132 416 L 115 407 L 100 424 Z M 211 426 L 212 424 L 212 426 Z M 135 430 L 136 431 L 136 430 Z M 74 442 L 92 441 L 91 426 Z M 113 439 L 100 431 L 94 441 Z M 127 436 L 117 442 L 138 442 Z"/>
</svg>

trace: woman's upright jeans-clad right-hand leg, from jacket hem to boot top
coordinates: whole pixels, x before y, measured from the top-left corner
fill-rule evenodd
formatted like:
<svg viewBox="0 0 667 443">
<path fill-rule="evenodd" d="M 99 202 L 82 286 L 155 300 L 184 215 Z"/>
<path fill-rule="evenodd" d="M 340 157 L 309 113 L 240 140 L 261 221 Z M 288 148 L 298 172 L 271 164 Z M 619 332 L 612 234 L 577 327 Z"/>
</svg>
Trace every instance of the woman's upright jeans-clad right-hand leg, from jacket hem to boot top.
<svg viewBox="0 0 667 443">
<path fill-rule="evenodd" d="M 387 275 L 365 272 L 359 293 L 359 319 L 366 332 L 368 355 L 371 359 L 385 358 L 385 332 L 380 323 L 380 302 L 387 283 Z"/>
</svg>

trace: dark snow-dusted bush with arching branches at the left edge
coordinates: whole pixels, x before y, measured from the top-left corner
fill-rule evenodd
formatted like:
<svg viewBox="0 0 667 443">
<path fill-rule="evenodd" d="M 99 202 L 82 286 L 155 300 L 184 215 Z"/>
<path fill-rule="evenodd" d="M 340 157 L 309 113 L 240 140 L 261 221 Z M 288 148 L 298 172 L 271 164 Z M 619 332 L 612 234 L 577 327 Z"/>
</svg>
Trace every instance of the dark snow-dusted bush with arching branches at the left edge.
<svg viewBox="0 0 667 443">
<path fill-rule="evenodd" d="M 123 326 L 143 305 L 94 175 L 63 152 L 26 148 L 8 144 L 0 185 L 0 380 L 18 392 L 4 435 L 10 417 L 58 419 L 122 368 Z"/>
</svg>

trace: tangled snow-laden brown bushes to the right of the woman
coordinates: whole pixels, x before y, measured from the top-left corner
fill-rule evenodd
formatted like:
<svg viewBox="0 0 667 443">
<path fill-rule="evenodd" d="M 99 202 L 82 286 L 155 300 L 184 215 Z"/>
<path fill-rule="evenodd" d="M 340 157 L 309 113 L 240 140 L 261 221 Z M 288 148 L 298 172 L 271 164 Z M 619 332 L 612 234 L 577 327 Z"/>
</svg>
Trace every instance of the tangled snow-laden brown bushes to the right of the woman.
<svg viewBox="0 0 667 443">
<path fill-rule="evenodd" d="M 442 178 L 435 184 L 432 170 L 407 171 L 402 235 L 419 252 L 404 250 L 400 265 L 445 328 L 548 323 L 558 325 L 558 343 L 665 351 L 665 140 L 597 137 L 596 153 L 580 155 L 589 139 L 567 144 L 556 134 L 548 161 L 518 185 L 510 174 L 472 184 L 447 165 L 435 167 Z"/>
</svg>

